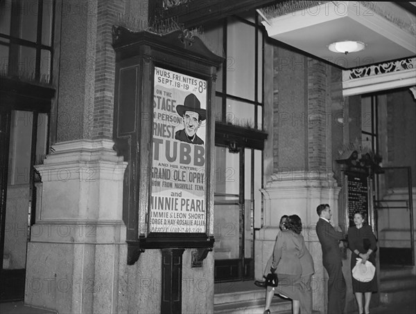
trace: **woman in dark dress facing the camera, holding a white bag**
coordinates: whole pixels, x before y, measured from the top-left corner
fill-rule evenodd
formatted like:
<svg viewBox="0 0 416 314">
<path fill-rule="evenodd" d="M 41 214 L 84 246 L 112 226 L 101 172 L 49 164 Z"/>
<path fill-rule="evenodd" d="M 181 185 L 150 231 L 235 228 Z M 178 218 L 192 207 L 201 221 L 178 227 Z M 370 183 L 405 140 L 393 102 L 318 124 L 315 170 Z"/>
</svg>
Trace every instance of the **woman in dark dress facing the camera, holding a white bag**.
<svg viewBox="0 0 416 314">
<path fill-rule="evenodd" d="M 376 266 L 374 251 L 376 250 L 376 237 L 372 232 L 370 225 L 365 223 L 366 215 L 362 212 L 354 214 L 354 227 L 348 230 L 349 249 L 352 250 L 351 270 L 356 266 L 357 258 L 361 259 L 361 263 L 370 261 Z M 377 291 L 376 274 L 372 280 L 361 282 L 352 276 L 352 291 L 354 292 L 358 304 L 359 313 L 370 313 L 370 300 L 373 292 Z M 365 295 L 365 305 L 363 307 L 363 293 Z M 363 312 L 364 310 L 364 312 Z"/>
</svg>

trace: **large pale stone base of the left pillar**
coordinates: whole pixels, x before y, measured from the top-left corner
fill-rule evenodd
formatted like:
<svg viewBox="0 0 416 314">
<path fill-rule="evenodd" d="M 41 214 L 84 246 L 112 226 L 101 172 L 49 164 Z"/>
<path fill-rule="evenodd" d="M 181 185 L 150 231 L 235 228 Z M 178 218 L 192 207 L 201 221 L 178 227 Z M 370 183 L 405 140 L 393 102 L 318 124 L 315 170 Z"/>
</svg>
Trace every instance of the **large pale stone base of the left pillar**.
<svg viewBox="0 0 416 314">
<path fill-rule="evenodd" d="M 122 220 L 127 163 L 110 140 L 53 147 L 37 185 L 26 261 L 25 303 L 59 313 L 116 313 L 126 262 Z"/>
</svg>

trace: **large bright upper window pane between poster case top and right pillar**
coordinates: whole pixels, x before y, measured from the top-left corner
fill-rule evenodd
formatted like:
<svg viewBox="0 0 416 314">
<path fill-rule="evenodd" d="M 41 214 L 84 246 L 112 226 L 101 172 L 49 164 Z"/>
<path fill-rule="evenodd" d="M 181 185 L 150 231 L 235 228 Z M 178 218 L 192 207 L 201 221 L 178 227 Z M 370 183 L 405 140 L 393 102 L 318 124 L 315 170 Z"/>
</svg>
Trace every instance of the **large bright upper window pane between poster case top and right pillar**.
<svg viewBox="0 0 416 314">
<path fill-rule="evenodd" d="M 254 26 L 229 19 L 227 93 L 249 100 L 254 100 L 254 30 Z"/>
</svg>

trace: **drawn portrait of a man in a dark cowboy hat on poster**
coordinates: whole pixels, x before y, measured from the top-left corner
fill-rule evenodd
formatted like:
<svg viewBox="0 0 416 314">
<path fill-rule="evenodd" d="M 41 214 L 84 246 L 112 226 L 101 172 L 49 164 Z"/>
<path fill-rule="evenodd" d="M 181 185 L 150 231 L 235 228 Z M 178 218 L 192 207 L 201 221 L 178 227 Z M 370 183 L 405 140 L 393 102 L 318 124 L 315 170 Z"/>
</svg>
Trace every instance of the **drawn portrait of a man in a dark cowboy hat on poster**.
<svg viewBox="0 0 416 314">
<path fill-rule="evenodd" d="M 184 100 L 184 104 L 176 106 L 177 113 L 182 117 L 184 129 L 176 131 L 175 139 L 191 144 L 204 144 L 204 141 L 196 135 L 199 127 L 207 118 L 207 111 L 201 109 L 201 103 L 196 95 L 189 94 Z"/>
</svg>

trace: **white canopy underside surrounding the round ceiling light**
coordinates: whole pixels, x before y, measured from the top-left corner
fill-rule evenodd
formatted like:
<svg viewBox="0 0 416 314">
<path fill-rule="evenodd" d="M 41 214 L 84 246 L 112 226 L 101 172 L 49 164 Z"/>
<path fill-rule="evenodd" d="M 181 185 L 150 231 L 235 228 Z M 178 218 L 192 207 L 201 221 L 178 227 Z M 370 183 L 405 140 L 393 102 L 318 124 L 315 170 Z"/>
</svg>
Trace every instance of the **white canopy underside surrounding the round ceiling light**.
<svg viewBox="0 0 416 314">
<path fill-rule="evenodd" d="M 342 68 L 355 68 L 416 55 L 416 38 L 406 26 L 416 24 L 415 15 L 392 2 L 377 2 L 390 20 L 365 8 L 358 1 L 327 2 L 263 21 L 268 35 Z M 393 17 L 393 18 L 392 18 Z M 399 21 L 399 22 L 397 22 Z M 401 27 L 399 27 L 401 23 Z M 357 53 L 333 53 L 335 41 L 362 41 Z"/>
</svg>

